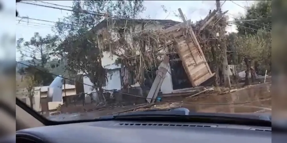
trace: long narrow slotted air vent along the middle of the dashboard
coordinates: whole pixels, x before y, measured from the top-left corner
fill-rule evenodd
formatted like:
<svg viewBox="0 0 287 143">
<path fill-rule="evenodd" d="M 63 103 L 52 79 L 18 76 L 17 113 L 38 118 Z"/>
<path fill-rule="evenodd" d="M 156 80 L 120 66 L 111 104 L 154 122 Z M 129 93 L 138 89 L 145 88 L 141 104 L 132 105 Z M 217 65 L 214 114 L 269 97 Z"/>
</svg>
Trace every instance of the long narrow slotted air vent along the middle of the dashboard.
<svg viewBox="0 0 287 143">
<path fill-rule="evenodd" d="M 157 123 L 119 123 L 120 126 L 179 126 L 179 127 L 217 127 L 216 125 L 196 124 L 157 124 Z"/>
</svg>

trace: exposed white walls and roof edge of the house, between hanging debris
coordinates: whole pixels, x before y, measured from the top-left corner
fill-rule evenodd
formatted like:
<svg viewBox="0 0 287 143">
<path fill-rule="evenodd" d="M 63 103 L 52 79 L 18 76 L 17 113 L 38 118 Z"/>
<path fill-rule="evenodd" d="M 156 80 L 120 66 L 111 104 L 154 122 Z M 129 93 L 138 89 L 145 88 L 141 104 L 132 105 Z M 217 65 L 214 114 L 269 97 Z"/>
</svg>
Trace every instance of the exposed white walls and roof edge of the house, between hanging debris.
<svg viewBox="0 0 287 143">
<path fill-rule="evenodd" d="M 172 20 L 159 20 L 159 19 L 135 19 L 135 20 L 115 19 L 114 21 L 115 21 L 114 23 L 116 23 L 117 25 L 121 25 L 121 27 L 123 27 L 119 28 L 119 30 L 115 31 L 115 33 L 112 33 L 114 35 L 117 34 L 116 32 L 118 33 L 123 32 L 125 30 L 124 27 L 129 24 L 134 25 L 134 32 L 141 32 L 141 29 L 143 27 L 145 31 L 162 31 L 171 26 L 181 23 Z M 105 29 L 107 29 L 107 27 L 108 27 L 108 20 L 103 20 L 101 23 L 99 23 L 97 26 L 91 29 L 91 31 L 96 31 L 95 33 L 101 35 L 101 33 Z M 127 41 L 131 41 L 131 39 Z M 123 68 L 121 68 L 120 63 L 116 63 L 117 58 L 118 58 L 117 55 L 112 55 L 112 53 L 109 51 L 103 51 L 102 66 L 108 70 L 107 71 L 108 79 L 106 82 L 106 86 L 104 86 L 103 89 L 120 90 L 122 88 L 122 85 L 124 83 Z M 171 59 L 172 60 L 169 63 L 171 65 L 171 68 L 168 70 L 160 89 L 163 94 L 170 94 L 178 89 L 192 87 L 192 85 L 187 79 L 187 75 L 183 69 L 182 63 L 179 60 L 178 55 L 177 54 L 171 55 Z M 151 87 L 152 82 L 156 75 L 155 72 L 156 67 L 152 71 L 152 73 L 151 72 L 146 73 L 146 76 L 151 78 L 146 77 L 144 83 L 145 86 L 148 86 L 149 88 Z M 128 74 L 129 74 L 128 82 L 130 87 L 139 87 L 140 86 L 139 82 L 136 82 L 137 75 L 134 72 L 129 72 Z M 85 75 L 83 76 L 83 82 L 85 84 L 92 85 L 91 81 L 89 80 L 89 77 Z M 94 92 L 94 90 L 91 90 L 88 85 L 84 85 L 85 93 Z"/>
</svg>

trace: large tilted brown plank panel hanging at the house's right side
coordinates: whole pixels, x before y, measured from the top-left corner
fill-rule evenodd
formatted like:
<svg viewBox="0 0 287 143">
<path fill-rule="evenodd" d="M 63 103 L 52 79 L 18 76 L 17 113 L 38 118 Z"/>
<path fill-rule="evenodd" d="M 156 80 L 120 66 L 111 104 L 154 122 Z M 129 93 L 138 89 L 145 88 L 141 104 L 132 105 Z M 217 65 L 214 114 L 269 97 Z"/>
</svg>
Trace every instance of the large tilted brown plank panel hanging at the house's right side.
<svg viewBox="0 0 287 143">
<path fill-rule="evenodd" d="M 190 80 L 192 86 L 195 87 L 213 77 L 215 73 L 211 72 L 211 69 L 198 42 L 198 38 L 190 25 L 190 20 L 185 19 L 180 8 L 178 11 L 181 15 L 181 19 L 183 19 L 183 23 L 165 29 L 164 32 L 173 37 L 173 43 L 182 61 L 188 79 Z M 208 15 L 209 18 L 206 18 L 208 23 L 212 23 L 214 20 L 216 20 L 214 13 L 215 12 Z M 201 29 L 204 29 L 208 23 L 204 23 Z"/>
</svg>

